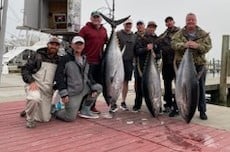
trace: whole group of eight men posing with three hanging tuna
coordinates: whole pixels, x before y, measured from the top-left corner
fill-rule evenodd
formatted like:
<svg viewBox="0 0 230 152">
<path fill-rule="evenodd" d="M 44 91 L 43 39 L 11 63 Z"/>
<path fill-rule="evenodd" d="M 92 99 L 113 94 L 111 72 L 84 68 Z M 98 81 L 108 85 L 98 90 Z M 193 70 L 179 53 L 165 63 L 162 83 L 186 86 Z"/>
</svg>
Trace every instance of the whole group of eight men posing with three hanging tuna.
<svg viewBox="0 0 230 152">
<path fill-rule="evenodd" d="M 47 48 L 31 54 L 22 68 L 22 78 L 26 83 L 25 107 L 26 126 L 34 128 L 36 121 L 47 122 L 51 119 L 52 95 L 57 89 L 65 107 L 54 110 L 52 115 L 63 121 L 74 121 L 79 115 L 83 118 L 98 118 L 96 99 L 102 92 L 101 61 L 103 49 L 108 41 L 107 30 L 101 24 L 100 13 L 91 13 L 90 21 L 83 26 L 78 36 L 73 37 L 66 55 L 57 55 L 60 41 L 51 37 Z M 209 35 L 197 25 L 196 15 L 186 16 L 186 25 L 179 29 L 173 17 L 165 19 L 167 29 L 160 36 L 155 31 L 157 24 L 149 21 L 145 27 L 143 21 L 136 23 L 137 31 L 132 31 L 131 19 L 123 23 L 123 29 L 117 31 L 117 37 L 123 53 L 124 83 L 120 108 L 129 110 L 126 105 L 128 83 L 135 78 L 135 101 L 133 112 L 139 112 L 142 106 L 142 74 L 149 51 L 156 61 L 162 58 L 162 76 L 164 80 L 164 112 L 170 117 L 178 114 L 176 99 L 172 93 L 172 83 L 176 77 L 176 68 L 180 64 L 186 48 L 190 48 L 197 72 L 205 68 L 205 54 L 211 49 Z M 198 110 L 200 118 L 207 120 L 205 104 L 205 76 L 199 79 L 200 98 Z M 116 112 L 118 107 L 113 109 Z"/>
</svg>

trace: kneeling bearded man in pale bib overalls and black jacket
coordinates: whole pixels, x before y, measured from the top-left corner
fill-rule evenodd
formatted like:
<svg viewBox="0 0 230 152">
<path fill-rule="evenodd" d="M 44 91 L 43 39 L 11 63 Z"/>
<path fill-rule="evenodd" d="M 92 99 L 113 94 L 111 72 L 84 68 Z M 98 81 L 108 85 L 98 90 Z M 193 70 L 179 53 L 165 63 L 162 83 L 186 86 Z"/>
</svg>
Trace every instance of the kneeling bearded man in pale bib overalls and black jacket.
<svg viewBox="0 0 230 152">
<path fill-rule="evenodd" d="M 22 67 L 22 79 L 26 83 L 26 127 L 36 127 L 35 121 L 47 122 L 51 118 L 53 80 L 58 62 L 60 42 L 51 37 L 47 48 L 31 54 Z"/>
</svg>

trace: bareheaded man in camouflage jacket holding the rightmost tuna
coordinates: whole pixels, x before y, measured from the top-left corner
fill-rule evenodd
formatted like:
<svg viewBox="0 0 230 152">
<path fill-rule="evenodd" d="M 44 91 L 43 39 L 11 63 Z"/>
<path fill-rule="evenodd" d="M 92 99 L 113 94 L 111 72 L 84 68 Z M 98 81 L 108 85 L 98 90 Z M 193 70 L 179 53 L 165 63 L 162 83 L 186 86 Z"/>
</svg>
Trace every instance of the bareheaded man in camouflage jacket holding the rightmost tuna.
<svg viewBox="0 0 230 152">
<path fill-rule="evenodd" d="M 199 79 L 199 103 L 200 119 L 207 120 L 206 103 L 205 103 L 205 54 L 212 48 L 209 34 L 197 26 L 196 15 L 189 13 L 186 16 L 186 25 L 172 37 L 172 48 L 175 50 L 174 62 L 178 66 L 182 60 L 184 52 L 187 48 L 192 51 L 193 62 Z"/>
</svg>

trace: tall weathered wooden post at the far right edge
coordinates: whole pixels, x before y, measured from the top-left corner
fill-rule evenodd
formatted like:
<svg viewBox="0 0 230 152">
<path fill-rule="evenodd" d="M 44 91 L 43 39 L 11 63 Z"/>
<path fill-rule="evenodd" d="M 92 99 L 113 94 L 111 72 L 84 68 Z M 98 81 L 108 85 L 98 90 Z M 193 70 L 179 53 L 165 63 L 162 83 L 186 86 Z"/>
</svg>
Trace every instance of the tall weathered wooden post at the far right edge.
<svg viewBox="0 0 230 152">
<path fill-rule="evenodd" d="M 221 55 L 221 71 L 220 71 L 220 104 L 227 106 L 227 59 L 229 52 L 229 35 L 223 35 L 222 55 Z"/>
</svg>

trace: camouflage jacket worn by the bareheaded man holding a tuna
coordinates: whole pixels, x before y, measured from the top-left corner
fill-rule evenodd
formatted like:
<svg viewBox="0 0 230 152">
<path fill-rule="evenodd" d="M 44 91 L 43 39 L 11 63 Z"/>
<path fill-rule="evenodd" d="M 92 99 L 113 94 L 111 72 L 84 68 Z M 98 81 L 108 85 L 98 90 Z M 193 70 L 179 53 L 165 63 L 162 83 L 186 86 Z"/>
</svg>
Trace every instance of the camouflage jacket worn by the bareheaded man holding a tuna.
<svg viewBox="0 0 230 152">
<path fill-rule="evenodd" d="M 199 45 L 197 49 L 192 49 L 194 64 L 205 65 L 205 54 L 212 48 L 212 43 L 209 34 L 198 26 L 196 27 L 195 35 L 193 38 L 189 36 L 185 27 L 173 35 L 171 45 L 175 50 L 174 61 L 176 63 L 181 62 L 186 50 L 185 43 L 189 39 L 195 41 Z"/>
</svg>

